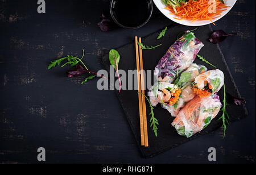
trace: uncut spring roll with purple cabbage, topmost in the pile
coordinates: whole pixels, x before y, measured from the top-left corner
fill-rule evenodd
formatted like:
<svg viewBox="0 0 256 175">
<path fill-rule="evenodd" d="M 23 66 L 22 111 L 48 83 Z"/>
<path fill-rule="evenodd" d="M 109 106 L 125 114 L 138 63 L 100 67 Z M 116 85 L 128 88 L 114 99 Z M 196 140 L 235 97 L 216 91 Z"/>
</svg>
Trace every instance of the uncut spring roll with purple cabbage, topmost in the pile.
<svg viewBox="0 0 256 175">
<path fill-rule="evenodd" d="M 156 65 L 154 76 L 160 82 L 172 83 L 178 74 L 193 63 L 203 46 L 204 44 L 191 31 L 185 32 Z"/>
</svg>

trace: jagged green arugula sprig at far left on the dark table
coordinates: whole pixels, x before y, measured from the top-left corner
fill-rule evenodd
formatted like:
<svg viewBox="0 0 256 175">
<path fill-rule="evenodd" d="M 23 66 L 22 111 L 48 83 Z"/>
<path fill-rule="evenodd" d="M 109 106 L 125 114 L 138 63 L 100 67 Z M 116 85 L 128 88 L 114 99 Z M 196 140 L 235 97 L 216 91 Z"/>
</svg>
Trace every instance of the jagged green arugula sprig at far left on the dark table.
<svg viewBox="0 0 256 175">
<path fill-rule="evenodd" d="M 51 61 L 51 64 L 49 64 L 49 66 L 48 66 L 48 70 L 51 69 L 51 68 L 55 68 L 56 65 L 60 65 L 61 62 L 63 62 L 64 60 L 67 60 L 67 62 L 65 62 L 65 64 L 63 64 L 63 65 L 61 66 L 61 68 L 63 68 L 64 66 L 66 66 L 66 65 L 68 65 L 68 64 L 73 67 L 73 66 L 79 64 L 79 62 L 81 62 L 81 64 L 84 65 L 85 69 L 86 69 L 86 70 L 89 70 L 89 69 L 85 66 L 84 62 L 82 62 L 82 59 L 83 59 L 83 58 L 84 58 L 84 49 L 82 49 L 82 57 L 81 57 L 81 59 L 79 59 L 78 57 L 74 57 L 74 56 L 69 56 L 69 55 L 68 55 L 67 57 L 63 57 L 63 58 L 61 58 L 61 59 L 58 59 L 58 60 L 55 60 L 55 61 Z"/>
</svg>

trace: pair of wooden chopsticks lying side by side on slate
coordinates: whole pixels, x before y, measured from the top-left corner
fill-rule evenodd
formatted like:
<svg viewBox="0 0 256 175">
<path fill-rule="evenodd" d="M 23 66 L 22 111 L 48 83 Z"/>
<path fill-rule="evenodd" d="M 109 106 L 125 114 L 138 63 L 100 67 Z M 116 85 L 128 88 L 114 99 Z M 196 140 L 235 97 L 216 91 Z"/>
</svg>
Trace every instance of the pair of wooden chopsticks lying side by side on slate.
<svg viewBox="0 0 256 175">
<path fill-rule="evenodd" d="M 139 38 L 139 42 L 141 43 L 141 38 Z M 137 36 L 135 37 L 135 49 L 136 49 L 138 92 L 139 92 L 138 96 L 139 96 L 139 120 L 141 124 L 141 145 L 148 147 L 146 99 L 144 95 L 142 95 L 142 94 L 145 94 L 142 47 L 138 45 Z"/>
</svg>

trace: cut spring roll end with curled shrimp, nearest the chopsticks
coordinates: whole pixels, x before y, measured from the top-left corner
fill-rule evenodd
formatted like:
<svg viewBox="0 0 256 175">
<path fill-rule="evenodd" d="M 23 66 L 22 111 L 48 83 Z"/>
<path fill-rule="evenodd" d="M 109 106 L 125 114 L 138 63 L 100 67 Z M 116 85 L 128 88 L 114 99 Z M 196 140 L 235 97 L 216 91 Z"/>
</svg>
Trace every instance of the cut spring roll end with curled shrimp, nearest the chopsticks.
<svg viewBox="0 0 256 175">
<path fill-rule="evenodd" d="M 152 106 L 158 105 L 174 105 L 180 98 L 180 87 L 170 84 L 169 82 L 156 82 L 148 91 Z"/>
</svg>

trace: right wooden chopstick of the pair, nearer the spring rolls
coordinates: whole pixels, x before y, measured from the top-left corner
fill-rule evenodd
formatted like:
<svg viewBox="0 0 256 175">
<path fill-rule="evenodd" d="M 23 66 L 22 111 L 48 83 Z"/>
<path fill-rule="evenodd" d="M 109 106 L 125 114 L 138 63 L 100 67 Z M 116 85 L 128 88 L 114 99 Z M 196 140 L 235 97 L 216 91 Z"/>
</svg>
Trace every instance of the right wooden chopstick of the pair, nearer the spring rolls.
<svg viewBox="0 0 256 175">
<path fill-rule="evenodd" d="M 139 43 L 141 42 L 141 38 L 139 38 Z M 141 88 L 142 93 L 145 94 L 145 81 L 144 81 L 144 68 L 143 68 L 143 58 L 142 58 L 142 47 L 139 46 L 139 57 L 141 63 Z M 144 142 L 145 147 L 148 147 L 148 134 L 147 134 L 147 110 L 146 110 L 146 98 L 142 95 L 142 109 L 143 109 L 143 126 L 144 126 Z"/>
</svg>

